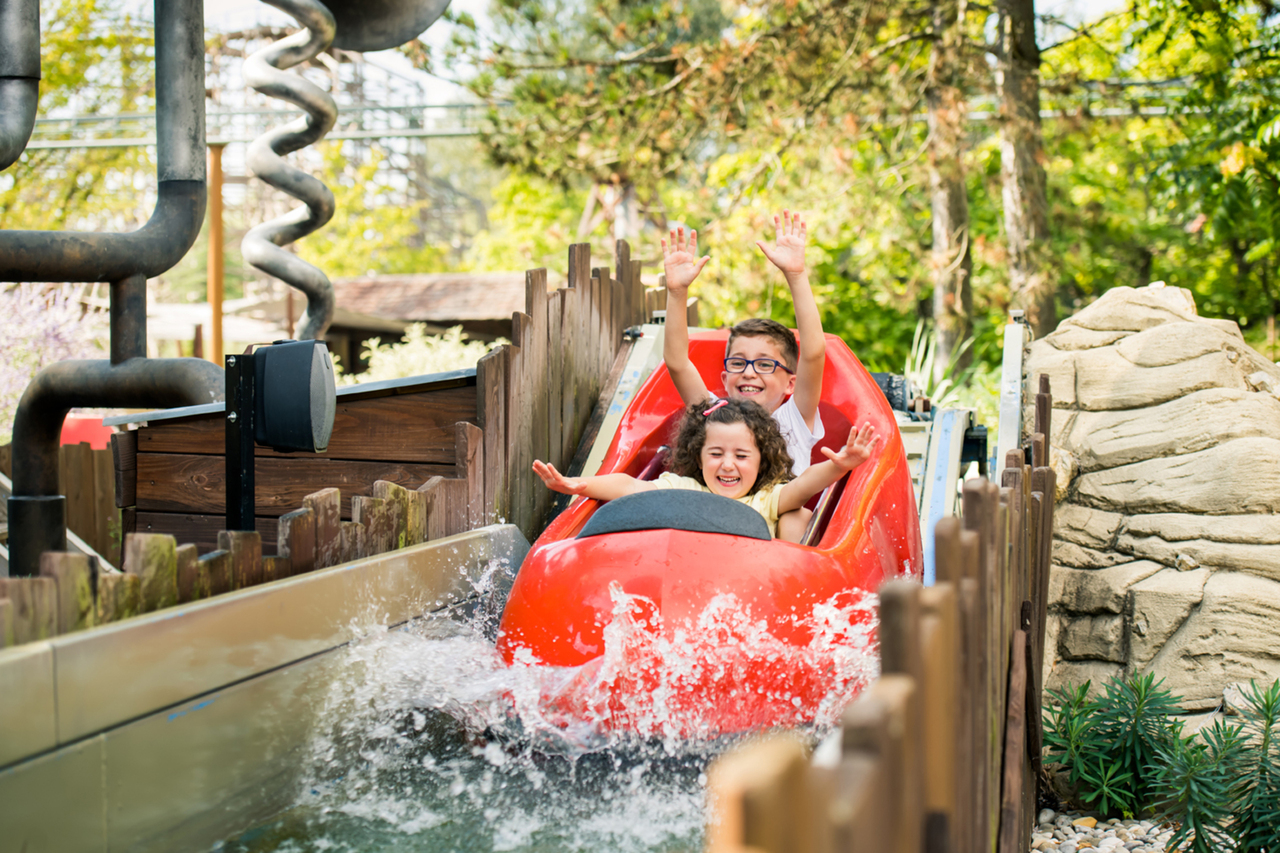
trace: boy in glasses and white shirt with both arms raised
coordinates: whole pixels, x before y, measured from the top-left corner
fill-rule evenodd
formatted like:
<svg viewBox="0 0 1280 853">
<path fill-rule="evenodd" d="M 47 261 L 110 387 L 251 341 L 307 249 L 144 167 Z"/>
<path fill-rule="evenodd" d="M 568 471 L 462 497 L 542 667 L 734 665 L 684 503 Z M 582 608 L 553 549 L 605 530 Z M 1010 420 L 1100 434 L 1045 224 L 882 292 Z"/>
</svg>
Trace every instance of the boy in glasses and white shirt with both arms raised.
<svg viewBox="0 0 1280 853">
<path fill-rule="evenodd" d="M 787 279 L 795 305 L 799 348 L 796 337 L 781 323 L 742 320 L 730 329 L 721 379 L 730 398 L 750 400 L 773 415 L 787 441 L 787 451 L 794 461 L 791 470 L 799 475 L 809 467 L 813 446 L 823 437 L 818 398 L 822 394 L 827 342 L 804 263 L 808 225 L 799 215 L 783 210 L 781 220 L 778 216 L 773 218 L 773 246 L 759 241 L 755 245 Z M 686 242 L 684 228 L 671 232 L 669 245 L 666 240 L 662 241 L 662 256 L 667 274 L 667 328 L 662 355 L 681 400 L 685 405 L 694 405 L 710 398 L 712 393 L 689 360 L 686 306 L 689 286 L 703 272 L 709 257 L 698 257 L 698 232 L 690 232 Z M 791 394 L 790 400 L 787 394 Z M 809 515 L 801 507 L 780 517 L 778 538 L 799 542 L 809 524 Z"/>
</svg>

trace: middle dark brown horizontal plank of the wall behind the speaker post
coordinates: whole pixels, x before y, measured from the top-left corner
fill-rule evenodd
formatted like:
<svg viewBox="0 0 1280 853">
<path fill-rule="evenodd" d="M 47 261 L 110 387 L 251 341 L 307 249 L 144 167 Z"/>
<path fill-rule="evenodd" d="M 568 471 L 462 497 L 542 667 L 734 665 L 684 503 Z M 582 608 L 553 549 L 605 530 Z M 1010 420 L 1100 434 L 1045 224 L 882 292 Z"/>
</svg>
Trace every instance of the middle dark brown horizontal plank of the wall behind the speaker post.
<svg viewBox="0 0 1280 853">
<path fill-rule="evenodd" d="M 417 488 L 428 478 L 452 473 L 452 465 L 352 462 L 305 459 L 259 459 L 256 515 L 282 516 L 324 488 L 343 493 L 342 517 L 351 517 L 351 497 L 372 497 L 374 480 Z M 227 511 L 227 470 L 221 456 L 138 453 L 138 510 L 215 515 Z"/>
</svg>

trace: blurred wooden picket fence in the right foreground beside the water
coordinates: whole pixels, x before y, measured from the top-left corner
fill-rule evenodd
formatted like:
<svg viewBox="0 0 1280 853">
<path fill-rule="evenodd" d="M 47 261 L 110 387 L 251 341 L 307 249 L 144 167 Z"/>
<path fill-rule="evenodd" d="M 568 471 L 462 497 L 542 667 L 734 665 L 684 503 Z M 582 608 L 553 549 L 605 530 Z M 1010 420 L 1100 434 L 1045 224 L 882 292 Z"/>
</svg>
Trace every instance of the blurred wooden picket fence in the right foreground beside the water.
<svg viewBox="0 0 1280 853">
<path fill-rule="evenodd" d="M 1041 377 L 1036 432 L 1010 451 L 1002 485 L 969 480 L 963 520 L 938 523 L 938 583 L 881 588 L 881 676 L 842 716 L 838 765 L 812 766 L 782 735 L 726 754 L 709 774 L 709 850 L 1027 853 L 1042 753 L 1051 406 Z"/>
</svg>

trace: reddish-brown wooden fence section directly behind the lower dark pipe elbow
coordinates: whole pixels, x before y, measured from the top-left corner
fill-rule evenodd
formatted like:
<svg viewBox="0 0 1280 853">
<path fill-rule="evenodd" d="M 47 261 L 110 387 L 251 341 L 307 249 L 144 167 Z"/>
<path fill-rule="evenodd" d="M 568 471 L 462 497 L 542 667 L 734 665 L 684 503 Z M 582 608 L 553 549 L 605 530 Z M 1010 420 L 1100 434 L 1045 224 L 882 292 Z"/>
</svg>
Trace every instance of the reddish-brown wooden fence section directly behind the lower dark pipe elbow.
<svg viewBox="0 0 1280 853">
<path fill-rule="evenodd" d="M 123 534 L 111 451 L 81 442 L 63 444 L 60 456 L 59 493 L 67 496 L 67 528 L 113 566 L 120 565 Z M 0 447 L 0 474 L 13 476 L 12 444 Z"/>
</svg>

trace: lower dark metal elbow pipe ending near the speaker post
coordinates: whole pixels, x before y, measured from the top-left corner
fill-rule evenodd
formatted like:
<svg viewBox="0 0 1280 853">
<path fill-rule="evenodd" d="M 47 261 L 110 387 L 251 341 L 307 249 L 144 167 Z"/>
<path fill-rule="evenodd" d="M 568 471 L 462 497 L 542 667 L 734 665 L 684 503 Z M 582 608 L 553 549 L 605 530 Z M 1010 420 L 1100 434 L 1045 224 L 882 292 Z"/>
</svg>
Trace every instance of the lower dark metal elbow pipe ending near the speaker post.
<svg viewBox="0 0 1280 853">
<path fill-rule="evenodd" d="M 63 420 L 73 407 L 154 409 L 216 402 L 223 370 L 204 359 L 59 361 L 32 379 L 13 423 L 9 573 L 35 575 L 40 555 L 67 549 L 67 501 L 58 493 Z"/>
</svg>

